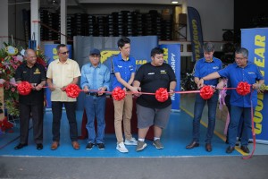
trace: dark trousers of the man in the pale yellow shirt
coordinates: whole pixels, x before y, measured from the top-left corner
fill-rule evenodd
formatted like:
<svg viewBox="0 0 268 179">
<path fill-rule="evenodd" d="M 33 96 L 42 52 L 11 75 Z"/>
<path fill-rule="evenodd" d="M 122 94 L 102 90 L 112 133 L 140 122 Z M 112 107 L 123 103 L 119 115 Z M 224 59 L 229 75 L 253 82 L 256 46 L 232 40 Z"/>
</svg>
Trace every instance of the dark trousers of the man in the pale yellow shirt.
<svg viewBox="0 0 268 179">
<path fill-rule="evenodd" d="M 70 125 L 70 138 L 71 141 L 78 140 L 78 130 L 76 122 L 76 102 L 61 102 L 61 101 L 52 101 L 52 114 L 53 114 L 53 124 L 52 124 L 52 134 L 53 141 L 60 141 L 60 128 L 61 128 L 61 119 L 63 113 L 63 104 L 66 109 L 67 118 Z"/>
</svg>

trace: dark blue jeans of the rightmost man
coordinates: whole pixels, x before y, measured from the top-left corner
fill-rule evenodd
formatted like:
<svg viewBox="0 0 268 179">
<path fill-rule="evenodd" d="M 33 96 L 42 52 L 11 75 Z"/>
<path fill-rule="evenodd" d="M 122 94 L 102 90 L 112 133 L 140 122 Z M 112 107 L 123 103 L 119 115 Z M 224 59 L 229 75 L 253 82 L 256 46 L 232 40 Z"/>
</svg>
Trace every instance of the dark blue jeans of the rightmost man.
<svg viewBox="0 0 268 179">
<path fill-rule="evenodd" d="M 230 106 L 230 124 L 228 141 L 231 147 L 235 147 L 237 134 L 239 130 L 239 121 L 241 116 L 244 118 L 244 124 L 241 135 L 241 146 L 247 146 L 248 138 L 251 132 L 251 108 Z"/>
</svg>

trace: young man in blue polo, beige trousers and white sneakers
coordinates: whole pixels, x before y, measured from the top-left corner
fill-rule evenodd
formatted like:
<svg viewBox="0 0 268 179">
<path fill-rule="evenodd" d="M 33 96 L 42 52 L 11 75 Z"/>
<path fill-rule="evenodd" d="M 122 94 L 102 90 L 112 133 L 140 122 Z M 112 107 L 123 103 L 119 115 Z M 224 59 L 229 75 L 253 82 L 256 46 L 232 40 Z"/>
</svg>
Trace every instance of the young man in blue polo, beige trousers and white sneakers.
<svg viewBox="0 0 268 179">
<path fill-rule="evenodd" d="M 125 91 L 138 92 L 138 87 L 132 87 L 136 72 L 136 59 L 130 56 L 130 38 L 120 38 L 117 42 L 120 54 L 113 57 L 113 89 L 120 87 Z M 132 95 L 128 94 L 120 101 L 113 99 L 114 106 L 114 130 L 117 139 L 116 149 L 120 152 L 129 152 L 125 145 L 137 145 L 137 141 L 131 135 L 130 119 L 132 115 Z M 121 121 L 123 120 L 123 128 L 125 142 L 123 142 Z"/>
</svg>

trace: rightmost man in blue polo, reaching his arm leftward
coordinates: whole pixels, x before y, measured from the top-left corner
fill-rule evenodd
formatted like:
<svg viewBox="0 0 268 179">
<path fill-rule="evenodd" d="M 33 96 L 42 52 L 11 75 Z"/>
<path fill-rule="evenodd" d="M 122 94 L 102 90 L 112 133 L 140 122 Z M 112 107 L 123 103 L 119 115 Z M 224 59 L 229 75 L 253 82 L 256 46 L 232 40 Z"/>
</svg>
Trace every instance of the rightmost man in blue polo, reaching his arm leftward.
<svg viewBox="0 0 268 179">
<path fill-rule="evenodd" d="M 251 93 L 241 96 L 236 90 L 230 93 L 230 126 L 229 126 L 229 147 L 226 153 L 231 153 L 236 145 L 236 138 L 241 115 L 244 117 L 244 126 L 241 137 L 241 147 L 244 152 L 249 153 L 247 148 L 249 134 L 251 132 L 251 107 L 257 104 L 257 90 L 264 84 L 264 76 L 257 65 L 247 61 L 248 51 L 246 48 L 238 48 L 235 52 L 235 64 L 230 64 L 219 72 L 213 72 L 202 78 L 197 86 L 202 87 L 204 81 L 225 77 L 230 81 L 231 88 L 237 88 L 240 81 L 246 81 L 251 85 Z M 252 101 L 252 105 L 251 105 Z"/>
</svg>

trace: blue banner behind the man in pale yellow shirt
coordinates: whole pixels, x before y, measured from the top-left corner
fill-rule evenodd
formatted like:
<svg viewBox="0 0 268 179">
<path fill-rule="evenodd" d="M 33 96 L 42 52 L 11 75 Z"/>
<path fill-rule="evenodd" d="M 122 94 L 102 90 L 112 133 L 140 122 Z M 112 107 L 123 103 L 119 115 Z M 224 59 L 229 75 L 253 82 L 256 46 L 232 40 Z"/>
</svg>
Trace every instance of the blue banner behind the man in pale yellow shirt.
<svg viewBox="0 0 268 179">
<path fill-rule="evenodd" d="M 47 58 L 47 64 L 50 64 L 55 59 L 59 58 L 59 55 L 57 54 L 56 47 L 58 44 L 46 44 L 45 45 L 45 55 Z M 67 48 L 69 50 L 69 58 L 71 58 L 71 45 L 67 45 Z M 46 108 L 51 108 L 51 91 L 49 89 L 46 89 Z"/>
</svg>

